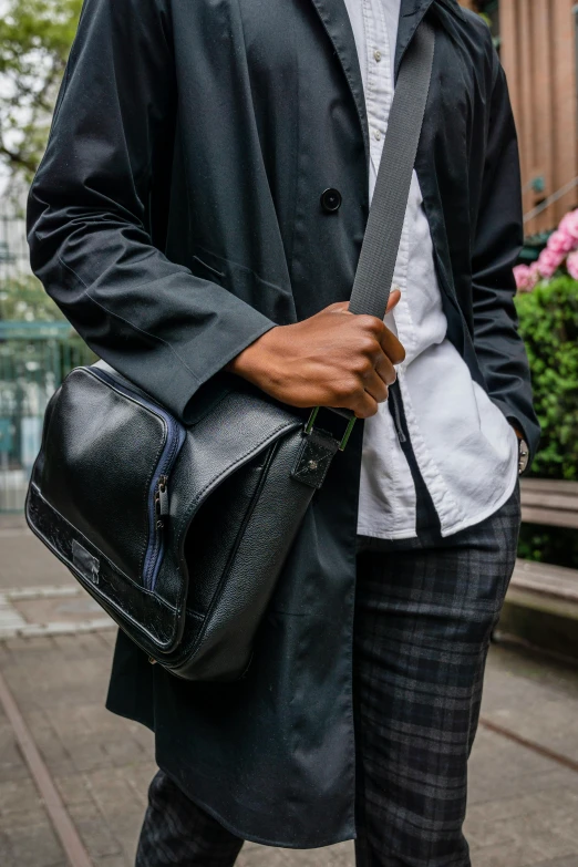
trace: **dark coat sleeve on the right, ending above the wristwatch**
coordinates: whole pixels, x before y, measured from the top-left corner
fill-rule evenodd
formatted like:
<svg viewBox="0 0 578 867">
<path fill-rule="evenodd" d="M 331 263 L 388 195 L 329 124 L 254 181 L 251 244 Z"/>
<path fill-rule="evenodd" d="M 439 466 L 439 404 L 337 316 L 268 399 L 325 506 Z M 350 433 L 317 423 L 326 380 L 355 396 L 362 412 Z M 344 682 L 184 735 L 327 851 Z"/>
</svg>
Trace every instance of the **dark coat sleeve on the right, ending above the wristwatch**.
<svg viewBox="0 0 578 867">
<path fill-rule="evenodd" d="M 524 433 L 533 457 L 540 431 L 514 306 L 513 268 L 524 240 L 519 157 L 506 78 L 495 53 L 494 61 L 482 200 L 472 250 L 474 347 L 491 399 Z"/>
</svg>

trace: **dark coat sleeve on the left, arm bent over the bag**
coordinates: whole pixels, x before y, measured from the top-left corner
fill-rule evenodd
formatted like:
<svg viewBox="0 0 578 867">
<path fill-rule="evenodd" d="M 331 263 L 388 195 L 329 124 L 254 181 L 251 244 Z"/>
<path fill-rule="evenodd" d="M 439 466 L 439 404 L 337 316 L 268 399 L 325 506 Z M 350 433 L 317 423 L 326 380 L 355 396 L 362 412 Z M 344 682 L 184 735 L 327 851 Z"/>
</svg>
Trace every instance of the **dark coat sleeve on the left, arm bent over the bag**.
<svg viewBox="0 0 578 867">
<path fill-rule="evenodd" d="M 28 231 L 34 272 L 86 343 L 186 420 L 199 385 L 275 323 L 152 241 L 175 126 L 168 2 L 85 0 Z"/>
</svg>

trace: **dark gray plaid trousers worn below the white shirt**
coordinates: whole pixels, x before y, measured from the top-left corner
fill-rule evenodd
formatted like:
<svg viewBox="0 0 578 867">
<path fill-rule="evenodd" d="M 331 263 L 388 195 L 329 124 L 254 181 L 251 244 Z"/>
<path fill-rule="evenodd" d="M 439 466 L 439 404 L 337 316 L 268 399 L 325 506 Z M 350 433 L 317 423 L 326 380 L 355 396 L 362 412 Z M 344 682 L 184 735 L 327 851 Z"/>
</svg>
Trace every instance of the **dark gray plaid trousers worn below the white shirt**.
<svg viewBox="0 0 578 867">
<path fill-rule="evenodd" d="M 462 833 L 467 758 L 516 558 L 519 486 L 492 517 L 442 538 L 414 481 L 417 538 L 359 539 L 358 867 L 471 867 Z M 136 867 L 230 867 L 241 845 L 157 773 Z"/>
</svg>

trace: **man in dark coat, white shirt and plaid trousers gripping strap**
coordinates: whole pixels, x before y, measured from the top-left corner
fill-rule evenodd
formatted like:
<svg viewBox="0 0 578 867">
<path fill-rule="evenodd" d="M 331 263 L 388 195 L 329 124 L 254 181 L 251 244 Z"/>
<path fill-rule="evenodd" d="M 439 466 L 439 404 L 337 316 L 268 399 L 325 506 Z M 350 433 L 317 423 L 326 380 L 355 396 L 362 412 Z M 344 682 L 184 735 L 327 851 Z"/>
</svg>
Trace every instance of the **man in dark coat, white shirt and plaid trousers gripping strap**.
<svg viewBox="0 0 578 867">
<path fill-rule="evenodd" d="M 381 322 L 347 299 L 425 16 L 432 84 Z M 179 681 L 118 636 L 107 706 L 155 731 L 162 768 L 140 867 L 355 835 L 360 865 L 469 865 L 518 440 L 522 465 L 538 440 L 513 307 L 516 136 L 486 25 L 454 0 L 86 0 L 29 225 L 74 327 L 180 419 L 233 374 L 365 420 L 241 681 Z"/>
</svg>

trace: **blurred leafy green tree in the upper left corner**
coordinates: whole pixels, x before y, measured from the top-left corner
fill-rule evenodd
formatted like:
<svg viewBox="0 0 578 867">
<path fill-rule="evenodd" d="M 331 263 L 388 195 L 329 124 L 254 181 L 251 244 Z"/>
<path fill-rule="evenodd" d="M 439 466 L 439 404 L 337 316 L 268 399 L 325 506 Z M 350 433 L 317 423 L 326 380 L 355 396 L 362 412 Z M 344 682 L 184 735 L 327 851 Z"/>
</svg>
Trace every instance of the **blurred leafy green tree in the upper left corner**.
<svg viewBox="0 0 578 867">
<path fill-rule="evenodd" d="M 82 0 L 3 0 L 0 161 L 29 182 L 45 147 Z"/>
</svg>

